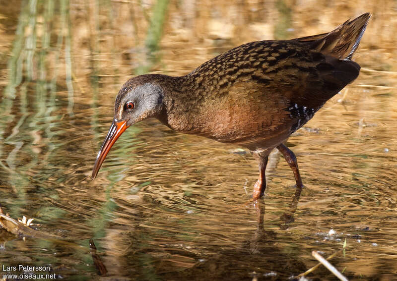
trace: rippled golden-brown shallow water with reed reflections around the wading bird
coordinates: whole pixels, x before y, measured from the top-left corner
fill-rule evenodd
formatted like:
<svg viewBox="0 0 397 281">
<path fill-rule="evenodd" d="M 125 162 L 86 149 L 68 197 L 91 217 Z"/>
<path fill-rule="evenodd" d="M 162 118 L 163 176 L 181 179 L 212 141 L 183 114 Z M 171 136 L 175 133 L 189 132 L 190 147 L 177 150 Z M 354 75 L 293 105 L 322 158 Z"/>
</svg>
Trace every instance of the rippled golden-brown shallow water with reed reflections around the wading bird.
<svg viewBox="0 0 397 281">
<path fill-rule="evenodd" d="M 239 44 L 331 31 L 365 11 L 359 78 L 287 142 L 300 194 L 274 153 L 265 200 L 250 203 L 250 153 L 157 120 L 130 127 L 90 179 L 132 75 L 183 75 Z M 92 237 L 112 280 L 286 280 L 346 239 L 330 260 L 346 277 L 397 279 L 396 18 L 394 1 L 0 2 L 0 204 L 72 242 L 0 230 L 0 264 L 98 278 Z M 322 266 L 308 278 L 336 280 Z"/>
</svg>

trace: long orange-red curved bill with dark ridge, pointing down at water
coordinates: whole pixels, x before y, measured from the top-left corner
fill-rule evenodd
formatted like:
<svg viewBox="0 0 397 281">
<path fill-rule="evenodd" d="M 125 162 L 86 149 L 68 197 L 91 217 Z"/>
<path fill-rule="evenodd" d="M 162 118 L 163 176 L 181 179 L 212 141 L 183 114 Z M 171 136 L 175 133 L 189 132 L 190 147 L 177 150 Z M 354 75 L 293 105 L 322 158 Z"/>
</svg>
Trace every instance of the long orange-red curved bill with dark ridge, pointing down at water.
<svg viewBox="0 0 397 281">
<path fill-rule="evenodd" d="M 117 122 L 116 120 L 113 120 L 112 125 L 109 128 L 108 135 L 103 141 L 101 149 L 98 151 L 94 168 L 92 169 L 92 175 L 91 175 L 92 179 L 95 179 L 99 169 L 102 166 L 102 163 L 105 161 L 106 155 L 108 155 L 113 144 L 117 141 L 117 139 L 127 128 L 128 128 L 127 121 Z"/>
</svg>

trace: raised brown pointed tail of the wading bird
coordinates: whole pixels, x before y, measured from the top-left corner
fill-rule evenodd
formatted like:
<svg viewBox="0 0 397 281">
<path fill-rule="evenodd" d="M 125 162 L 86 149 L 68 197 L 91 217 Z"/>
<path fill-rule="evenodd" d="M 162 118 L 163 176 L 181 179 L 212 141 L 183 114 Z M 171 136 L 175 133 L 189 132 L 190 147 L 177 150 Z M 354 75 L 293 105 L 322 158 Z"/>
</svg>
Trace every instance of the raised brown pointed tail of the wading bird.
<svg viewBox="0 0 397 281">
<path fill-rule="evenodd" d="M 360 44 L 370 17 L 370 13 L 365 13 L 355 19 L 345 21 L 329 33 L 294 40 L 309 43 L 311 49 L 324 55 L 338 59 L 351 59 Z"/>
</svg>

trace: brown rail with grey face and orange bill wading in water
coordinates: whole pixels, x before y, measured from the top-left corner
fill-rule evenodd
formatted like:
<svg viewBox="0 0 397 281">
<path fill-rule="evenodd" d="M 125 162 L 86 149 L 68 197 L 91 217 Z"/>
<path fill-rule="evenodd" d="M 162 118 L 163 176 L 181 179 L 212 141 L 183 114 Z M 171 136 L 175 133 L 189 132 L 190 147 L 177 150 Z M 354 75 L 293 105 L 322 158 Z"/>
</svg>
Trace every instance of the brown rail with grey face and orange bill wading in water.
<svg viewBox="0 0 397 281">
<path fill-rule="evenodd" d="M 117 95 L 113 123 L 92 178 L 129 126 L 155 117 L 177 132 L 251 150 L 259 164 L 254 199 L 264 195 L 267 157 L 274 148 L 292 169 L 297 187 L 302 187 L 296 157 L 283 142 L 357 78 L 360 66 L 351 57 L 370 16 L 362 14 L 329 33 L 247 43 L 185 76 L 131 78 Z"/>
</svg>

